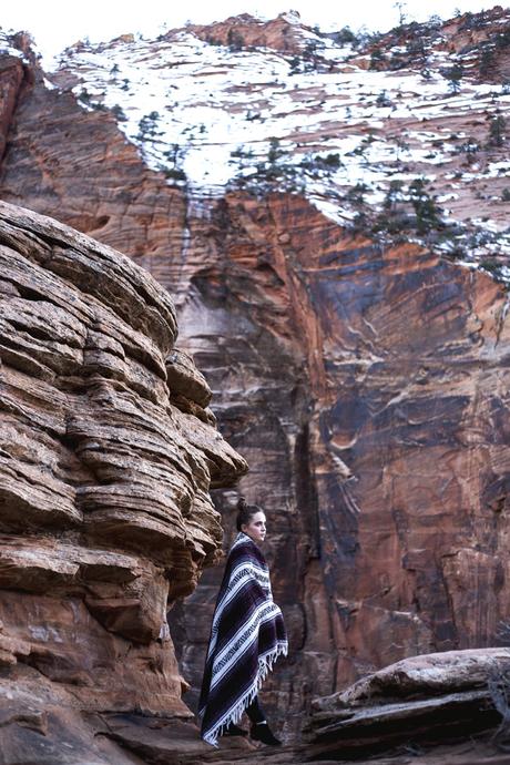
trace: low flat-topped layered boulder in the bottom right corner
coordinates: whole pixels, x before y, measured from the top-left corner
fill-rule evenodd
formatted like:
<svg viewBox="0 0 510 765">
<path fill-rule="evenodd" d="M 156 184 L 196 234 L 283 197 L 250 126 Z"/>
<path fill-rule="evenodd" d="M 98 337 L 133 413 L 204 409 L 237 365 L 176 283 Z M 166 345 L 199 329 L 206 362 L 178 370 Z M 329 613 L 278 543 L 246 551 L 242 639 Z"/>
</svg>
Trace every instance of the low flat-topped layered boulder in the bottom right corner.
<svg viewBox="0 0 510 765">
<path fill-rule="evenodd" d="M 493 733 L 508 712 L 494 704 L 498 687 L 501 700 L 507 697 L 509 667 L 504 649 L 448 651 L 392 664 L 314 703 L 307 758 L 355 758 L 399 745 L 419 755 L 424 746 Z M 506 726 L 501 733 L 508 737 Z"/>
</svg>

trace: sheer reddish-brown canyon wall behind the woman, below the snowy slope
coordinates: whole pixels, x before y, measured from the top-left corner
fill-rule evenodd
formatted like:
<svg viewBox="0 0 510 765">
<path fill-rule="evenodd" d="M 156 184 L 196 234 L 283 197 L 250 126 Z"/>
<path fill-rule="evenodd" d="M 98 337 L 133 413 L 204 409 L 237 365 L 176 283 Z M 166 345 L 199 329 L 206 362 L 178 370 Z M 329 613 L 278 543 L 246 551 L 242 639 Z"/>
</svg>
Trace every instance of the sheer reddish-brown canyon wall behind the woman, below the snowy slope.
<svg viewBox="0 0 510 765">
<path fill-rule="evenodd" d="M 175 297 L 180 346 L 269 520 L 290 655 L 264 700 L 284 733 L 312 696 L 367 671 L 497 641 L 510 589 L 500 285 L 349 233 L 295 194 L 167 185 L 111 114 L 40 76 L 19 93 L 0 183 L 4 200 L 122 248 Z M 235 499 L 215 492 L 225 545 Z M 221 573 L 207 569 L 171 612 L 192 706 Z"/>
</svg>

